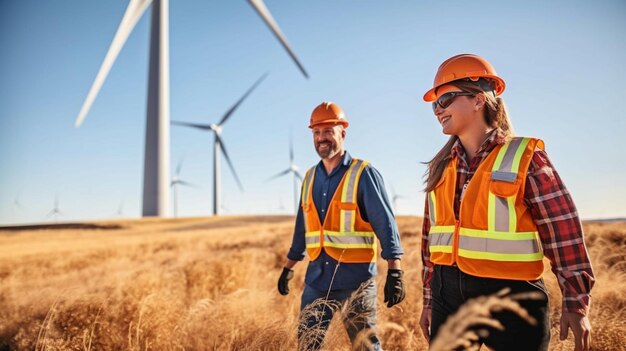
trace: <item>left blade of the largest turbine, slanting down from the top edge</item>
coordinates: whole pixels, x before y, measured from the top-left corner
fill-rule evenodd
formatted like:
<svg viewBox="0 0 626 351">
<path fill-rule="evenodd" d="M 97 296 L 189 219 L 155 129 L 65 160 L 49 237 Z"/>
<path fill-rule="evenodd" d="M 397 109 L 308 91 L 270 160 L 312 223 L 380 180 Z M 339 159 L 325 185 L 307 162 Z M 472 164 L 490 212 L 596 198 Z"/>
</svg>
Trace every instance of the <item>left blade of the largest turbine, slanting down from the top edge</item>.
<svg viewBox="0 0 626 351">
<path fill-rule="evenodd" d="M 128 36 L 133 31 L 133 28 L 135 28 L 137 21 L 139 21 L 139 18 L 141 18 L 141 15 L 143 15 L 151 2 L 152 0 L 130 0 L 128 3 L 128 7 L 126 8 L 126 12 L 124 12 L 124 17 L 122 17 L 120 26 L 117 28 L 115 37 L 113 37 L 113 42 L 109 47 L 109 51 L 104 57 L 104 61 L 102 61 L 102 66 L 100 66 L 100 70 L 96 75 L 96 79 L 94 80 L 91 89 L 89 89 L 87 99 L 85 99 L 83 107 L 78 113 L 78 117 L 75 122 L 76 127 L 80 127 L 83 123 L 83 120 L 87 116 L 91 105 L 98 95 L 98 92 L 100 92 L 100 88 L 102 88 L 102 84 L 106 80 L 109 71 L 111 71 L 111 67 L 115 63 L 115 59 L 117 59 L 122 47 L 124 47 L 126 39 L 128 39 Z"/>
</svg>

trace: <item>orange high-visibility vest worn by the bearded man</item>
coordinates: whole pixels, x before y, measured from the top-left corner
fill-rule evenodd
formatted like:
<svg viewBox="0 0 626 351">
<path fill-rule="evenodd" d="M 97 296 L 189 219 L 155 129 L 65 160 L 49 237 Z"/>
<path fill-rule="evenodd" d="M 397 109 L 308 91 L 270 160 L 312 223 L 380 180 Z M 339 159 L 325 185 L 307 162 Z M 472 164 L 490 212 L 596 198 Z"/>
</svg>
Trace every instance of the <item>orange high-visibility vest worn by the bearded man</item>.
<svg viewBox="0 0 626 351">
<path fill-rule="evenodd" d="M 368 162 L 352 159 L 335 194 L 324 223 L 320 222 L 313 202 L 315 167 L 309 169 L 302 182 L 306 251 L 315 261 L 322 249 L 339 262 L 366 263 L 376 261 L 376 235 L 372 226 L 361 218 L 357 206 L 359 179 Z"/>
</svg>

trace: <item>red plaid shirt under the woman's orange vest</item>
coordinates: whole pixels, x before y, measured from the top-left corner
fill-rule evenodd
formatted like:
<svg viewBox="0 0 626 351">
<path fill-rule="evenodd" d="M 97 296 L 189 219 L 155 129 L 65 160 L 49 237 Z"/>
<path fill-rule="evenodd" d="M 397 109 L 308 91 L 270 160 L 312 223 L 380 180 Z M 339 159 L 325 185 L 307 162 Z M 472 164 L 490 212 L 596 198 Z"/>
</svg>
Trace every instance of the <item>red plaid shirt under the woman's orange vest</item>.
<svg viewBox="0 0 626 351">
<path fill-rule="evenodd" d="M 480 163 L 497 145 L 505 142 L 500 129 L 493 131 L 482 143 L 476 157 L 467 164 L 465 150 L 460 141 L 452 149 L 457 159 L 457 180 L 454 195 L 454 212 L 459 216 L 460 196 L 464 184 L 472 179 Z M 563 310 L 587 315 L 590 292 L 595 282 L 583 241 L 583 229 L 576 206 L 561 178 L 552 166 L 545 151 L 536 149 L 528 168 L 524 200 L 539 231 L 543 254 L 552 264 L 563 293 Z M 424 306 L 432 306 L 432 279 L 434 264 L 430 261 L 428 233 L 430 220 L 428 199 L 424 206 L 422 227 L 422 262 L 424 264 Z"/>
</svg>

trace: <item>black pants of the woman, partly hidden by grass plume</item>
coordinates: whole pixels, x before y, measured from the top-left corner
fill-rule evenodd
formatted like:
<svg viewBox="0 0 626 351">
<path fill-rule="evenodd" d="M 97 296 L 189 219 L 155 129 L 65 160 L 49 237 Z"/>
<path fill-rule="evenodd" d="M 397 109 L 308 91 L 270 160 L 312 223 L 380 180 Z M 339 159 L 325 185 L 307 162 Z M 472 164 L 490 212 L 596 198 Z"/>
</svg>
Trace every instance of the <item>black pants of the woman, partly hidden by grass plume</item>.
<svg viewBox="0 0 626 351">
<path fill-rule="evenodd" d="M 504 288 L 511 294 L 538 291 L 545 299 L 518 300 L 518 303 L 537 320 L 532 326 L 513 312 L 493 313 L 504 326 L 503 331 L 486 329 L 489 334 L 480 340 L 494 350 L 548 350 L 550 343 L 550 314 L 548 294 L 542 279 L 535 281 L 481 278 L 461 272 L 456 266 L 435 265 L 431 281 L 433 314 L 431 339 L 437 337 L 441 325 L 468 299 L 491 295 Z"/>
</svg>

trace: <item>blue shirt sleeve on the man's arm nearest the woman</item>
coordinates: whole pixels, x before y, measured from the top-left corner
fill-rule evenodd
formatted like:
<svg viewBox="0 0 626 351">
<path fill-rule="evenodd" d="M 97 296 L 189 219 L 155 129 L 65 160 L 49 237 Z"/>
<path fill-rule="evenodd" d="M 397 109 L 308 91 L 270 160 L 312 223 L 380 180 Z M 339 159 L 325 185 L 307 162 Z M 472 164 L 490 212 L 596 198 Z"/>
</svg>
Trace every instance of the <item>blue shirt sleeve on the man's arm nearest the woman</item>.
<svg viewBox="0 0 626 351">
<path fill-rule="evenodd" d="M 370 223 L 386 259 L 401 258 L 404 251 L 400 242 L 398 224 L 394 218 L 385 191 L 383 177 L 372 166 L 366 166 L 359 180 L 357 203 L 363 220 Z"/>
</svg>

